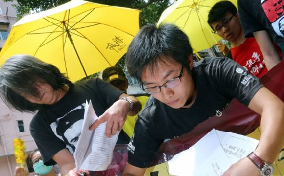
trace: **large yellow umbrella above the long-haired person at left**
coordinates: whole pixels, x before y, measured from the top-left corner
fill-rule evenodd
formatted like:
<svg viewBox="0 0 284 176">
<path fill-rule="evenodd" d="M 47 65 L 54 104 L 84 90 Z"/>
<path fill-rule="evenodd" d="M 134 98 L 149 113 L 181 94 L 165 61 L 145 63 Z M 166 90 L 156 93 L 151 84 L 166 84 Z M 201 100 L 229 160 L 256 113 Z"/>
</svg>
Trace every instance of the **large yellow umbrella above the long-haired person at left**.
<svg viewBox="0 0 284 176">
<path fill-rule="evenodd" d="M 0 64 L 12 55 L 30 54 L 76 81 L 117 63 L 139 30 L 139 12 L 72 0 L 27 15 L 13 25 Z"/>
</svg>

